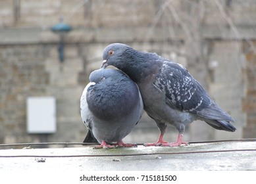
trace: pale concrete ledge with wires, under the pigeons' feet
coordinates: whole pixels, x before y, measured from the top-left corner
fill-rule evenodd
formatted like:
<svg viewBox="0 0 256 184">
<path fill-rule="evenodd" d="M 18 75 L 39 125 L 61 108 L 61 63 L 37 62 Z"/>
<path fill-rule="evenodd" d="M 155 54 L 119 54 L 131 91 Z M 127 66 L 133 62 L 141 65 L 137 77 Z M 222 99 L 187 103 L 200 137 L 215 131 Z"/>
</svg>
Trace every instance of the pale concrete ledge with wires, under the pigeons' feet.
<svg viewBox="0 0 256 184">
<path fill-rule="evenodd" d="M 256 170 L 256 140 L 182 147 L 2 149 L 0 171 Z"/>
</svg>

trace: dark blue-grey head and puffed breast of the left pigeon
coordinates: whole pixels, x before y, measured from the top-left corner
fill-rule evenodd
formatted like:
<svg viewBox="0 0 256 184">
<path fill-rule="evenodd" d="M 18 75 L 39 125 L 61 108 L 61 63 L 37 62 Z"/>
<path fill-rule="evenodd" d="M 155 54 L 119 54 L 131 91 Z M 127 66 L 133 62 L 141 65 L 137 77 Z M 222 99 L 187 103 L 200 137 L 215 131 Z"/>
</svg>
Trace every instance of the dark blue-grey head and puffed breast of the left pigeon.
<svg viewBox="0 0 256 184">
<path fill-rule="evenodd" d="M 101 120 L 127 116 L 138 105 L 137 85 L 120 70 L 95 70 L 90 74 L 90 83 L 86 89 L 88 108 Z"/>
</svg>

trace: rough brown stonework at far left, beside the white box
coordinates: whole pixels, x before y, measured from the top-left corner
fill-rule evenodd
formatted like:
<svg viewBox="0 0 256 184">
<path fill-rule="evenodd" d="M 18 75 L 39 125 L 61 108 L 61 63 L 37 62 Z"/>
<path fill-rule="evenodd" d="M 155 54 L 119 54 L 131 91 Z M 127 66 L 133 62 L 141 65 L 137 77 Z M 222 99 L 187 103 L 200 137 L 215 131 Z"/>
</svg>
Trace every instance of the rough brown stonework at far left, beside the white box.
<svg viewBox="0 0 256 184">
<path fill-rule="evenodd" d="M 46 95 L 49 72 L 43 45 L 0 46 L 0 122 L 1 142 L 28 140 L 26 135 L 26 97 Z M 32 140 L 30 140 L 32 141 Z"/>
</svg>

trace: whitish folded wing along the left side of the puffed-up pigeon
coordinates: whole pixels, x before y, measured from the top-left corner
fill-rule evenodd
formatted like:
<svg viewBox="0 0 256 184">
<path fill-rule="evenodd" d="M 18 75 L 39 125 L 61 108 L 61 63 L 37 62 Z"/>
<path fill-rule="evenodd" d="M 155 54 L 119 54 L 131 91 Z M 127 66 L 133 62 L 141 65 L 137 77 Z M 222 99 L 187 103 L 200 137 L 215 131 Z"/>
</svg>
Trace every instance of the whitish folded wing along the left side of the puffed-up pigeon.
<svg viewBox="0 0 256 184">
<path fill-rule="evenodd" d="M 88 85 L 86 85 L 86 87 L 84 88 L 84 91 L 82 93 L 82 97 L 80 99 L 80 111 L 81 111 L 81 117 L 82 117 L 82 120 L 84 122 L 84 124 L 86 125 L 86 127 L 88 129 L 91 129 L 91 111 L 90 109 L 88 108 L 88 103 L 87 103 L 87 100 L 86 100 L 86 95 L 87 95 L 87 91 L 88 91 L 88 88 L 91 86 L 91 85 L 94 85 L 95 83 L 93 82 L 90 82 L 88 83 Z"/>
</svg>

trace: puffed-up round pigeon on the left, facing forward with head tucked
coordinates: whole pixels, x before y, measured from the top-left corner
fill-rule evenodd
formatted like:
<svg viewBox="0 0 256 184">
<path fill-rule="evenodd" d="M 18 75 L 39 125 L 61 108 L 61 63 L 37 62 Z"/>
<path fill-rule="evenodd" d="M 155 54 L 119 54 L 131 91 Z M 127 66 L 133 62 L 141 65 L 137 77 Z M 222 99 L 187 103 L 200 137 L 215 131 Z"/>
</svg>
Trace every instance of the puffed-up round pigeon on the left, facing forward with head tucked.
<svg viewBox="0 0 256 184">
<path fill-rule="evenodd" d="M 81 116 L 89 129 L 84 142 L 101 144 L 95 148 L 136 147 L 122 139 L 138 123 L 143 112 L 143 101 L 138 85 L 124 72 L 99 69 L 91 72 L 80 99 Z M 115 145 L 110 143 L 116 142 Z"/>
</svg>

